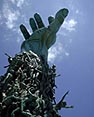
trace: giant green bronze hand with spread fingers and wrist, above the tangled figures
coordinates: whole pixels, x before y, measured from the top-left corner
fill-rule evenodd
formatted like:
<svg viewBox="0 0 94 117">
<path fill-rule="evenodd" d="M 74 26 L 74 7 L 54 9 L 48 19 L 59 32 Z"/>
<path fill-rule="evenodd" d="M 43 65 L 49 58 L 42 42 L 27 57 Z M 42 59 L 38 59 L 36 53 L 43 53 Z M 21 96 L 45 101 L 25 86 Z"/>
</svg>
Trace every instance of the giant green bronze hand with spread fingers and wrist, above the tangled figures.
<svg viewBox="0 0 94 117">
<path fill-rule="evenodd" d="M 29 23 L 33 33 L 30 35 L 26 27 L 21 24 L 20 30 L 25 38 L 21 45 L 21 52 L 32 51 L 47 61 L 48 49 L 56 42 L 56 33 L 68 15 L 68 9 L 59 10 L 55 18 L 48 17 L 49 26 L 45 27 L 39 14 L 35 13 L 34 18 L 30 18 Z"/>
</svg>

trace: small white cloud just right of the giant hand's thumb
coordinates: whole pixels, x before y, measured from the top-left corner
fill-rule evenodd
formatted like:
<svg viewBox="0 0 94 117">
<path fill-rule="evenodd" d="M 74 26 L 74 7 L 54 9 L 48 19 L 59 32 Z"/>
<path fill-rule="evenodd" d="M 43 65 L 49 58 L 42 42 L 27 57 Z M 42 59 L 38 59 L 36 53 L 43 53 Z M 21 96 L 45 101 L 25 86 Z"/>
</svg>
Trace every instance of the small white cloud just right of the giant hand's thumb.
<svg viewBox="0 0 94 117">
<path fill-rule="evenodd" d="M 62 28 L 68 30 L 69 32 L 74 31 L 76 28 L 77 21 L 74 19 L 70 19 L 68 21 L 64 21 Z"/>
</svg>

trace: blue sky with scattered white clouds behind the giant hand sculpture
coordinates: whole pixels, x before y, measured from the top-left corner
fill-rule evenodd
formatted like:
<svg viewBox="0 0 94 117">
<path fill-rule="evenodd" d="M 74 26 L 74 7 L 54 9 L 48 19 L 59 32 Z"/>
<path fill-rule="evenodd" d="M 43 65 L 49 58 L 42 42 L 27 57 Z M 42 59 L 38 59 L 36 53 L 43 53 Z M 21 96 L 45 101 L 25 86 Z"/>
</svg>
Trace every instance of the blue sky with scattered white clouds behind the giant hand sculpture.
<svg viewBox="0 0 94 117">
<path fill-rule="evenodd" d="M 57 33 L 56 44 L 49 50 L 49 64 L 56 64 L 56 100 L 70 90 L 66 101 L 74 109 L 62 109 L 63 117 L 94 116 L 94 1 L 93 0 L 2 0 L 0 1 L 0 75 L 7 65 L 7 52 L 20 52 L 23 36 L 21 23 L 29 32 L 29 18 L 38 12 L 48 25 L 47 18 L 61 8 L 69 15 Z M 32 33 L 32 32 L 31 32 Z"/>
</svg>

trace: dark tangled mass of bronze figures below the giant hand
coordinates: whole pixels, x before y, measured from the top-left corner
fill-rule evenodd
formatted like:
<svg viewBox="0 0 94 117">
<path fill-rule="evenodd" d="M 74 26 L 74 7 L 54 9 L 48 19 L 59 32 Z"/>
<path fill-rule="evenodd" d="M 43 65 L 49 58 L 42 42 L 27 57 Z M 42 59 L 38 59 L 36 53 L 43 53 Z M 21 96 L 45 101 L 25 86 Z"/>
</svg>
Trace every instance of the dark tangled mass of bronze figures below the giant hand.
<svg viewBox="0 0 94 117">
<path fill-rule="evenodd" d="M 33 52 L 9 58 L 0 78 L 0 117 L 59 117 L 55 109 L 56 68 Z"/>
</svg>

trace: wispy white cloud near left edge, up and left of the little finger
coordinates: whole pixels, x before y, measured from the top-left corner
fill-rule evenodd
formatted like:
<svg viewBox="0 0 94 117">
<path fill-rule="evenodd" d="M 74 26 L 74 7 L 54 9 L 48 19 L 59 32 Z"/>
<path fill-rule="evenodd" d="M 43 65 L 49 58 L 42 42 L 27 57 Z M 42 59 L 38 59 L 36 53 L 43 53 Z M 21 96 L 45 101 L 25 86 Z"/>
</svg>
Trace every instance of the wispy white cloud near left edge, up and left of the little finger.
<svg viewBox="0 0 94 117">
<path fill-rule="evenodd" d="M 15 22 L 18 20 L 20 13 L 18 10 L 12 10 L 9 8 L 9 5 L 7 3 L 3 6 L 3 17 L 6 19 L 6 26 L 9 29 L 12 29 L 15 27 Z"/>
</svg>

